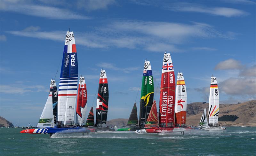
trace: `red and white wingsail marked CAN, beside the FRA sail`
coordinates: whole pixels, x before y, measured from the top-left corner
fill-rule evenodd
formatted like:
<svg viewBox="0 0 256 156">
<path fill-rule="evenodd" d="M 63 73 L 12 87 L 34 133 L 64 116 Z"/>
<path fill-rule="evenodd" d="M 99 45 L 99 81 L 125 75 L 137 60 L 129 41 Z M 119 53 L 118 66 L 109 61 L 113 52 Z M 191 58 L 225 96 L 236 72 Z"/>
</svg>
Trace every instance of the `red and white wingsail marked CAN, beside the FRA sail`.
<svg viewBox="0 0 256 156">
<path fill-rule="evenodd" d="M 76 119 L 80 126 L 85 125 L 85 112 L 87 108 L 87 90 L 84 76 L 79 78 L 78 96 L 76 102 Z"/>
</svg>

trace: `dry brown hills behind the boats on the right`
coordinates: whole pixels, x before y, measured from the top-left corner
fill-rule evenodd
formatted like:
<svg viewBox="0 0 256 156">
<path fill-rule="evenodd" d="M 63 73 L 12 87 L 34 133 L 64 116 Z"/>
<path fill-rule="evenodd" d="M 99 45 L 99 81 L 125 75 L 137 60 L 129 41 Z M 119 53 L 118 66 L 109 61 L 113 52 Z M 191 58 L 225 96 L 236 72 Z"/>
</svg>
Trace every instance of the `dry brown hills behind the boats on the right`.
<svg viewBox="0 0 256 156">
<path fill-rule="evenodd" d="M 187 120 L 188 126 L 197 126 L 204 108 L 208 112 L 208 103 L 191 103 L 187 105 Z M 219 121 L 220 125 L 226 126 L 256 126 L 256 100 L 240 103 L 240 104 L 220 104 L 219 117 L 223 115 L 237 115 L 235 121 Z M 107 122 L 108 126 L 122 127 L 125 126 L 128 119 L 113 119 Z"/>
</svg>

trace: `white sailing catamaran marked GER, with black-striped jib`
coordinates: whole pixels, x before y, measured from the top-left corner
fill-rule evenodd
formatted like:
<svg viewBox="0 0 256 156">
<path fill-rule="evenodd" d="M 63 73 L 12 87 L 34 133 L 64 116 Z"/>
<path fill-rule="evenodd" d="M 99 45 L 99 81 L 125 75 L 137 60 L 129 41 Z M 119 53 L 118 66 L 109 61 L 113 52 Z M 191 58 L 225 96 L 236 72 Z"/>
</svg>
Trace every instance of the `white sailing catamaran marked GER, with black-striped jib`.
<svg viewBox="0 0 256 156">
<path fill-rule="evenodd" d="M 221 127 L 218 125 L 218 117 L 219 117 L 219 89 L 216 77 L 211 77 L 211 86 L 210 86 L 210 95 L 209 95 L 209 111 L 208 111 L 208 117 L 209 117 L 209 124 L 206 126 L 207 118 L 204 120 L 200 120 L 199 129 L 203 130 L 223 130 L 226 129 L 226 127 Z M 204 109 L 203 115 L 206 115 L 206 109 Z M 204 123 L 204 124 L 202 124 Z"/>
</svg>

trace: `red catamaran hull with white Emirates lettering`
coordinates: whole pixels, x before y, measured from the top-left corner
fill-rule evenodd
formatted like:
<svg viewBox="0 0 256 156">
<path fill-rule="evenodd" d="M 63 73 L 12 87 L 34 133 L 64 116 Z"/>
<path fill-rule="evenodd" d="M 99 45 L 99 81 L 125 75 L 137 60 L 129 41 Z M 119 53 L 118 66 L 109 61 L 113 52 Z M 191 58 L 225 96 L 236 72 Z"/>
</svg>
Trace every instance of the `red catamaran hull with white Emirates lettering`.
<svg viewBox="0 0 256 156">
<path fill-rule="evenodd" d="M 172 132 L 184 132 L 185 128 L 156 128 L 156 129 L 140 129 L 135 130 L 135 133 L 172 133 Z"/>
</svg>

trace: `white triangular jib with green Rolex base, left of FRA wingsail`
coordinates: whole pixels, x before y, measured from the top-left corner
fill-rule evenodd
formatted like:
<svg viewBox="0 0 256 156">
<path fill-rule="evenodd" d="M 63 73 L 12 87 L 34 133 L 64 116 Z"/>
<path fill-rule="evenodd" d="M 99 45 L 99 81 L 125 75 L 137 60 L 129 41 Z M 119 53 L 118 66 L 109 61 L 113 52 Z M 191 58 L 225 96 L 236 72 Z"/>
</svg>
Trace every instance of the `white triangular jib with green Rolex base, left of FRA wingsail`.
<svg viewBox="0 0 256 156">
<path fill-rule="evenodd" d="M 52 91 L 51 91 L 52 85 L 53 83 L 51 81 L 50 93 L 44 105 L 44 109 L 40 116 L 40 119 L 37 123 L 37 127 L 53 127 L 54 126 L 53 109 L 52 109 Z"/>
</svg>

